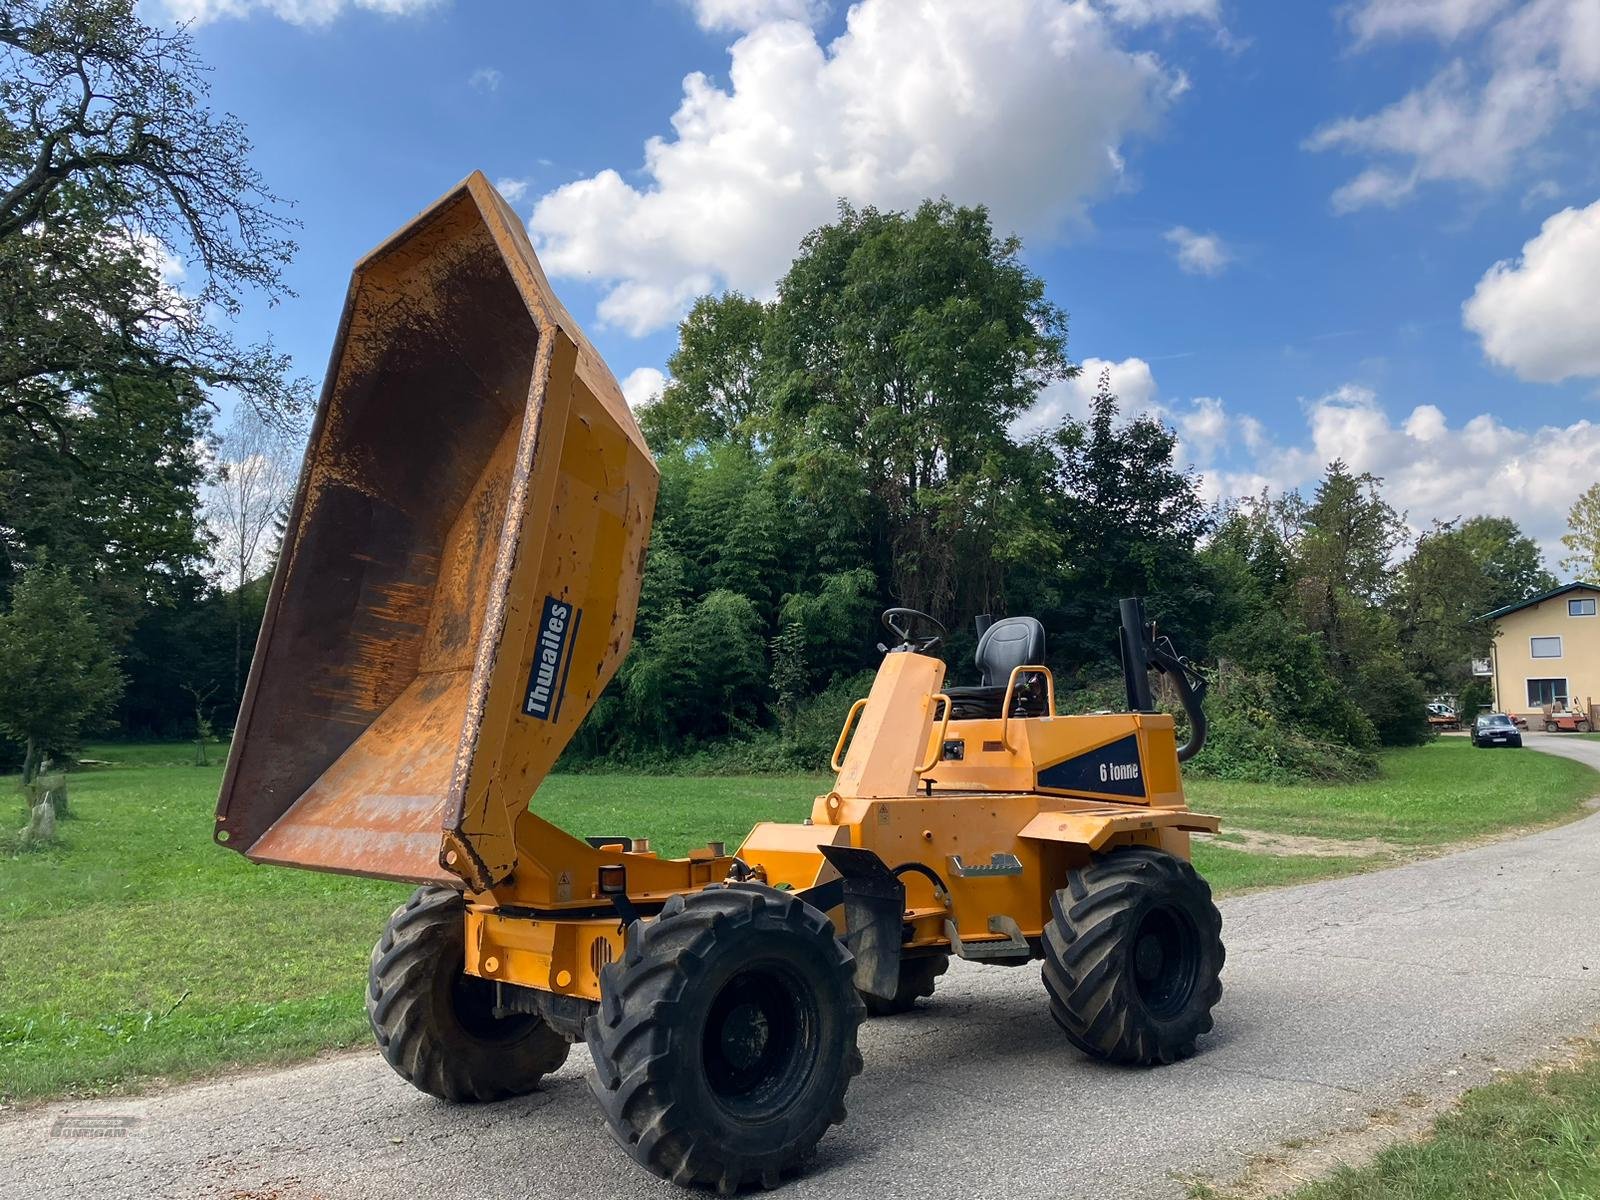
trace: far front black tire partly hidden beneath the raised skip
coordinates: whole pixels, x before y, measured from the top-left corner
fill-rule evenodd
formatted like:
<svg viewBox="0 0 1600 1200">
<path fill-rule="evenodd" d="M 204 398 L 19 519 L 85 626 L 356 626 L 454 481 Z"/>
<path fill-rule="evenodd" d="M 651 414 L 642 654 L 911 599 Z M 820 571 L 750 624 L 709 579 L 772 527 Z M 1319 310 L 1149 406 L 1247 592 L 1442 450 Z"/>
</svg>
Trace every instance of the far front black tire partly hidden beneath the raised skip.
<svg viewBox="0 0 1600 1200">
<path fill-rule="evenodd" d="M 414 1088 L 453 1102 L 522 1096 L 571 1043 L 541 1018 L 493 1014 L 494 984 L 464 973 L 466 902 L 418 888 L 373 947 L 366 1018 L 378 1050 Z"/>
</svg>

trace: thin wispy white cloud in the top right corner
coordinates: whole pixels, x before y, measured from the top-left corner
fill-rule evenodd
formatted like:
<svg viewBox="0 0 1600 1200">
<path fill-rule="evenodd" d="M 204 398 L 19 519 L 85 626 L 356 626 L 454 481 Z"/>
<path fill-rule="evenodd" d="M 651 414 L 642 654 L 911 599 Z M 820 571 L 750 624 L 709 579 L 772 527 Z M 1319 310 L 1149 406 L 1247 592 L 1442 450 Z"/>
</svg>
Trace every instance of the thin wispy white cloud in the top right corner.
<svg viewBox="0 0 1600 1200">
<path fill-rule="evenodd" d="M 1370 0 L 1358 37 L 1430 32 L 1475 45 L 1421 88 L 1366 117 L 1317 130 L 1312 150 L 1370 155 L 1333 195 L 1338 211 L 1397 205 L 1422 182 L 1498 187 L 1573 112 L 1600 91 L 1600 0 Z"/>
</svg>

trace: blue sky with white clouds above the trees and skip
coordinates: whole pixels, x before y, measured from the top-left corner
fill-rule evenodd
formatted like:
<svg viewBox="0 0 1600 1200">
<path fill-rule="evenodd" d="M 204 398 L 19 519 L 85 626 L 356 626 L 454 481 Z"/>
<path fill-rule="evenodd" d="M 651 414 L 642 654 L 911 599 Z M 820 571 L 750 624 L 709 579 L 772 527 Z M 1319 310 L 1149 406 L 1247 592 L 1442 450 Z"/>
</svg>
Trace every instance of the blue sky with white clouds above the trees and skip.
<svg viewBox="0 0 1600 1200">
<path fill-rule="evenodd" d="M 637 397 L 832 200 L 982 202 L 1211 494 L 1341 454 L 1547 546 L 1600 478 L 1600 0 L 147 0 L 350 264 L 482 168 Z M 1501 266 L 1496 266 L 1501 264 Z M 1082 406 L 1054 389 L 1030 424 Z"/>
</svg>

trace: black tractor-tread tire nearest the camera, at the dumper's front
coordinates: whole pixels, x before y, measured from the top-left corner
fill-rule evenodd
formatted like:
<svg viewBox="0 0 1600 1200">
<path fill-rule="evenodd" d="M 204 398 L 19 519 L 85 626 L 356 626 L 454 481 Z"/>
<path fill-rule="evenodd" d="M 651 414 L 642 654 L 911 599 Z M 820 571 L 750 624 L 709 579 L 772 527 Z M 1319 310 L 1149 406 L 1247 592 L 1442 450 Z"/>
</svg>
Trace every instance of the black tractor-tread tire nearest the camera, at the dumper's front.
<svg viewBox="0 0 1600 1200">
<path fill-rule="evenodd" d="M 864 1014 L 854 958 L 811 906 L 754 885 L 674 896 L 600 973 L 594 1093 L 664 1179 L 776 1187 L 845 1120 Z"/>
</svg>

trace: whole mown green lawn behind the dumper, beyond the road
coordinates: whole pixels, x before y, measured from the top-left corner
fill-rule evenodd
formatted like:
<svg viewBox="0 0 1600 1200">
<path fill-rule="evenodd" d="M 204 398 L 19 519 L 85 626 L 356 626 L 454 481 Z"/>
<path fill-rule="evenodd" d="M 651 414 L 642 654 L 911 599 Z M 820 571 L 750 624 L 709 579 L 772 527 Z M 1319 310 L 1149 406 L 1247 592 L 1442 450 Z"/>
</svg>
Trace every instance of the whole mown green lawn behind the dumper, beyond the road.
<svg viewBox="0 0 1600 1200">
<path fill-rule="evenodd" d="M 85 1093 L 230 1062 L 365 1042 L 366 954 L 400 885 L 253 867 L 211 843 L 221 766 L 187 746 L 99 746 L 70 778 L 62 843 L 11 856 L 0 818 L 0 1099 Z M 1192 803 L 1242 827 L 1424 846 L 1557 819 L 1595 789 L 1576 763 L 1474 752 L 1464 741 L 1386 755 L 1352 787 L 1197 781 Z M 800 819 L 822 776 L 558 776 L 539 811 L 574 832 L 648 835 L 666 854 Z M 0 781 L 3 798 L 14 779 Z M 1366 848 L 1362 848 L 1366 850 Z M 1373 866 L 1350 854 L 1248 853 L 1206 842 L 1219 891 Z"/>
</svg>

